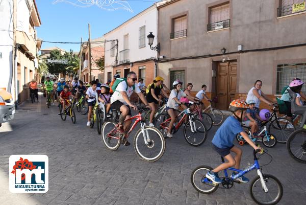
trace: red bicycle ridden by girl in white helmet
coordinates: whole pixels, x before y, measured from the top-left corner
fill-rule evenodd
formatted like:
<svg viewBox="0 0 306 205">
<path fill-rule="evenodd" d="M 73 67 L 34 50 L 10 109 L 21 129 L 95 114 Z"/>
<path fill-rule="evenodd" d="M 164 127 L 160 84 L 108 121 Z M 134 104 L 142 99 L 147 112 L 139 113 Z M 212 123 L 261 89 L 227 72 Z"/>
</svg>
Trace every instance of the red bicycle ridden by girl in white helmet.
<svg viewBox="0 0 306 205">
<path fill-rule="evenodd" d="M 181 120 L 179 120 L 179 117 L 183 116 Z M 185 124 L 185 118 L 188 116 L 189 121 Z M 195 115 L 190 112 L 190 108 L 187 108 L 186 110 L 183 110 L 179 115 L 176 116 L 176 122 L 173 124 L 172 133 L 176 133 L 177 130 L 183 125 L 184 126 L 184 136 L 185 140 L 188 144 L 192 146 L 200 146 L 203 144 L 207 138 L 207 129 L 206 126 L 200 121 L 199 119 L 195 118 Z M 166 113 L 159 114 L 155 121 L 154 125 L 156 128 L 158 128 L 165 136 L 167 136 L 167 132 L 169 129 L 169 123 L 171 121 L 171 118 Z M 199 133 L 199 134 L 198 134 Z"/>
</svg>

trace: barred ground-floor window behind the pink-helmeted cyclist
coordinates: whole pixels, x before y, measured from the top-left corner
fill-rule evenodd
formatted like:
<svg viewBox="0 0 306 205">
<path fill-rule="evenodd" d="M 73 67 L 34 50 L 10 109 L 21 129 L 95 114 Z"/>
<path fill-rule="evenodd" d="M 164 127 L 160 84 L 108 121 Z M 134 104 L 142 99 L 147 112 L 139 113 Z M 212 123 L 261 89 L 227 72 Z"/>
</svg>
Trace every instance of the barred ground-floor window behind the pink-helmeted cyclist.
<svg viewBox="0 0 306 205">
<path fill-rule="evenodd" d="M 306 62 L 277 65 L 276 94 L 281 94 L 284 86 L 288 86 L 293 78 L 306 82 Z M 302 92 L 306 93 L 306 86 L 302 87 Z"/>
</svg>

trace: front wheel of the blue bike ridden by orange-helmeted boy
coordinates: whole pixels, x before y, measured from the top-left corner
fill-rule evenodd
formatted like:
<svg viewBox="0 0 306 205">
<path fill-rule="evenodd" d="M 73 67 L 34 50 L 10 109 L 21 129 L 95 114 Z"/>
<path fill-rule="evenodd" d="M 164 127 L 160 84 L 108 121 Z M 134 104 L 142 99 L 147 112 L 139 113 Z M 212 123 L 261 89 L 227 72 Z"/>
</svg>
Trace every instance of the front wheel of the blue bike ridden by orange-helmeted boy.
<svg viewBox="0 0 306 205">
<path fill-rule="evenodd" d="M 278 203 L 283 197 L 283 186 L 273 175 L 263 175 L 265 184 L 268 188 L 266 193 L 263 189 L 260 176 L 255 177 L 250 183 L 250 195 L 258 204 L 272 205 Z"/>
</svg>

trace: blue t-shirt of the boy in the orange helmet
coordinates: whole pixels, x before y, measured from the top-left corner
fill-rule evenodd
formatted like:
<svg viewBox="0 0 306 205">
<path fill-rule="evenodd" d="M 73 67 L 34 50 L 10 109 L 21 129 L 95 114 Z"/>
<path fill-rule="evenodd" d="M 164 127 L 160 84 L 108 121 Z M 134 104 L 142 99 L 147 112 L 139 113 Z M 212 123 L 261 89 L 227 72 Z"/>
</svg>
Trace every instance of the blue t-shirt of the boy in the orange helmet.
<svg viewBox="0 0 306 205">
<path fill-rule="evenodd" d="M 239 121 L 234 117 L 228 117 L 217 130 L 212 143 L 221 149 L 233 146 L 236 135 L 243 129 Z"/>
</svg>

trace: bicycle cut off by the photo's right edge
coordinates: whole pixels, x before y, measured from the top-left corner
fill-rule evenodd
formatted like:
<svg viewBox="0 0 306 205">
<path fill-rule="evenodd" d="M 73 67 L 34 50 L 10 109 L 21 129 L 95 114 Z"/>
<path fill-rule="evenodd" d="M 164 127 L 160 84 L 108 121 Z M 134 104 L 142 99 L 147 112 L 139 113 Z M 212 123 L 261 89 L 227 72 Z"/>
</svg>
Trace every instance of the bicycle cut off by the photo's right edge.
<svg viewBox="0 0 306 205">
<path fill-rule="evenodd" d="M 298 106 L 295 103 L 296 94 L 289 90 L 291 96 L 291 110 L 295 115 L 301 115 L 302 119 L 298 130 L 292 132 L 288 138 L 286 147 L 290 156 L 299 163 L 306 163 L 306 106 Z"/>
</svg>

